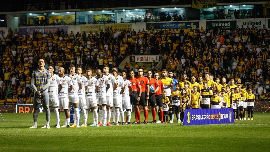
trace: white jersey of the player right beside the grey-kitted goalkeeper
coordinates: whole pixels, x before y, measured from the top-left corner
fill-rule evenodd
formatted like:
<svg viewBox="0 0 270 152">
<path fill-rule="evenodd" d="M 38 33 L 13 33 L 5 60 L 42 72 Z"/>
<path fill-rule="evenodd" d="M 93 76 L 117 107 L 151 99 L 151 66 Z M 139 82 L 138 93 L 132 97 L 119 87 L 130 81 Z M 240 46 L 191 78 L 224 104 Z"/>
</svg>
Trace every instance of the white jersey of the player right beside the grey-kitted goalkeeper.
<svg viewBox="0 0 270 152">
<path fill-rule="evenodd" d="M 50 86 L 48 87 L 49 99 L 58 98 L 58 85 L 62 84 L 62 81 L 58 75 L 52 75 L 50 79 Z"/>
</svg>

